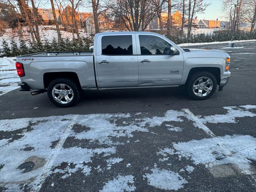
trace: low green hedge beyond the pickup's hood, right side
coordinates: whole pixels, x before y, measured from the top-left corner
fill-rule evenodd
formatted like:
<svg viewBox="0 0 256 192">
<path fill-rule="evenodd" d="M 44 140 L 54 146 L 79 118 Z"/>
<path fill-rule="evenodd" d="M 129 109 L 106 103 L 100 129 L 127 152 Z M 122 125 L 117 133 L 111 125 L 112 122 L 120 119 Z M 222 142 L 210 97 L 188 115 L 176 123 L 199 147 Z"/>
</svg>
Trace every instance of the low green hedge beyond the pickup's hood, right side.
<svg viewBox="0 0 256 192">
<path fill-rule="evenodd" d="M 192 34 L 190 38 L 184 35 L 174 35 L 171 34 L 166 36 L 168 39 L 172 40 L 175 44 L 182 43 L 204 43 L 204 42 L 216 42 L 216 41 L 230 41 L 231 40 L 231 32 L 230 31 L 216 31 L 210 34 Z M 256 31 L 252 34 L 249 32 L 239 31 L 234 34 L 233 40 L 250 40 L 256 39 Z"/>
</svg>

